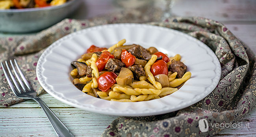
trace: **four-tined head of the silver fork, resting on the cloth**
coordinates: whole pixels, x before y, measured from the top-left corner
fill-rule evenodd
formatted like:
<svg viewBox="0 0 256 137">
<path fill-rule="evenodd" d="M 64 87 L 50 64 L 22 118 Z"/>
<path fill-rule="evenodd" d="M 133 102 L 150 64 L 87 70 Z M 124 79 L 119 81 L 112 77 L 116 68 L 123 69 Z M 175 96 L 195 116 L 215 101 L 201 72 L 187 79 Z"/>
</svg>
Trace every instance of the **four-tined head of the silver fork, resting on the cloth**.
<svg viewBox="0 0 256 137">
<path fill-rule="evenodd" d="M 14 63 L 15 63 L 15 65 L 14 65 Z M 20 70 L 20 67 L 19 67 L 16 59 L 14 59 L 14 63 L 13 63 L 13 60 L 10 60 L 9 64 L 11 64 L 11 66 L 8 65 L 7 61 L 5 61 L 5 64 L 3 62 L 1 62 L 1 65 L 2 65 L 2 68 L 3 68 L 3 71 L 4 71 L 4 75 L 6 76 L 6 80 L 9 83 L 11 90 L 17 96 L 17 94 L 19 94 L 19 93 L 21 94 L 22 92 L 31 91 L 32 88 L 30 87 L 30 85 L 29 85 L 28 81 L 26 80 L 24 74 Z M 7 68 L 8 71 L 6 71 L 5 67 Z M 16 81 L 15 77 L 13 76 L 11 70 L 13 70 L 18 82 Z M 9 78 L 9 76 L 11 77 L 11 79 Z M 14 85 L 13 85 L 13 83 L 14 83 Z M 18 92 L 15 88 L 18 90 Z"/>
</svg>

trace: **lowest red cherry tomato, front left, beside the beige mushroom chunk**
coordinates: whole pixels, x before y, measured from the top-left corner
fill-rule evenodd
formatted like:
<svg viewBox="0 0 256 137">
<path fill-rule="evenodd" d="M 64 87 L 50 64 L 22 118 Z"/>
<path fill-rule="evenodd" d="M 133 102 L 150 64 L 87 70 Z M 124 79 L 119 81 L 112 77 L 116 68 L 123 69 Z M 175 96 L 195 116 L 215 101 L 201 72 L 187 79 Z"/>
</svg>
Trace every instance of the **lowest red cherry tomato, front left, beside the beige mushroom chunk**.
<svg viewBox="0 0 256 137">
<path fill-rule="evenodd" d="M 116 83 L 117 75 L 113 72 L 105 72 L 97 79 L 99 90 L 106 92 Z"/>
</svg>

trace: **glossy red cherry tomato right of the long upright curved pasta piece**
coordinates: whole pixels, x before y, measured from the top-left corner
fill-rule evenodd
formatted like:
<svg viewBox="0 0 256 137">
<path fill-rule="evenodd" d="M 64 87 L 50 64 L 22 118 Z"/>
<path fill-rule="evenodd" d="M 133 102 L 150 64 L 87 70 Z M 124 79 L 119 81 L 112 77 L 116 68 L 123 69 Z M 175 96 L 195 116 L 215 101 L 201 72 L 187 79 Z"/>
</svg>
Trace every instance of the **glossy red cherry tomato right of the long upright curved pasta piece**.
<svg viewBox="0 0 256 137">
<path fill-rule="evenodd" d="M 151 73 L 156 76 L 158 74 L 168 75 L 168 68 L 166 62 L 163 60 L 156 61 L 150 68 Z"/>
</svg>

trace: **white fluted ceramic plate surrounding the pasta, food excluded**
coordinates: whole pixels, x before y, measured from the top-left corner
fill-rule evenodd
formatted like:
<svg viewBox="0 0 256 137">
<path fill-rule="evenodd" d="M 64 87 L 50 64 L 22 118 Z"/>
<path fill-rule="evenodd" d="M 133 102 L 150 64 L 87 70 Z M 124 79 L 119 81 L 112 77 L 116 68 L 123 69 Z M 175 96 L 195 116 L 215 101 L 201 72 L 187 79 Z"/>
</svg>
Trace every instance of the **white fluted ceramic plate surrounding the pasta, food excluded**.
<svg viewBox="0 0 256 137">
<path fill-rule="evenodd" d="M 126 44 L 154 46 L 169 56 L 180 54 L 192 76 L 176 92 L 151 101 L 115 102 L 89 96 L 71 82 L 70 63 L 91 45 L 110 47 L 119 40 Z M 37 63 L 37 78 L 50 95 L 71 106 L 109 115 L 146 116 L 165 114 L 197 103 L 217 86 L 219 60 L 201 41 L 173 29 L 145 24 L 111 24 L 83 29 L 54 42 Z"/>
</svg>

